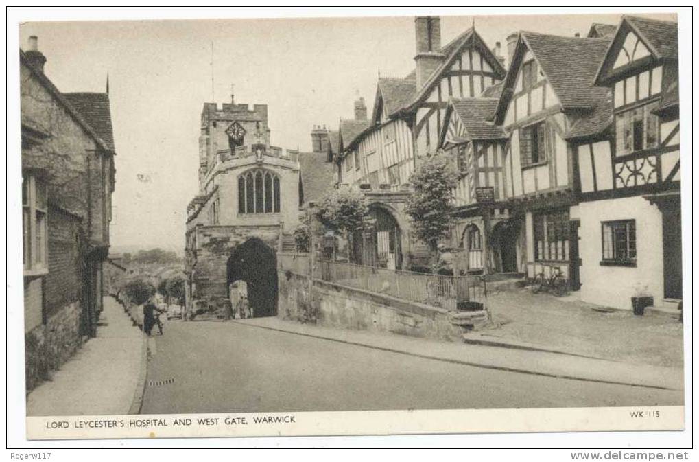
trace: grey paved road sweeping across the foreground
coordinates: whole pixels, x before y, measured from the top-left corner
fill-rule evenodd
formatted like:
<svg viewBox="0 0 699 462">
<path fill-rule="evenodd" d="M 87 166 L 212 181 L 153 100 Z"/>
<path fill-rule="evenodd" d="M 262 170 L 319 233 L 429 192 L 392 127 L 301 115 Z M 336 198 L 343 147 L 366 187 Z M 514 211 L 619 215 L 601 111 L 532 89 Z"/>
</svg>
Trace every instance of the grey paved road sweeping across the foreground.
<svg viewBox="0 0 699 462">
<path fill-rule="evenodd" d="M 171 321 L 152 343 L 143 414 L 682 403 L 681 391 L 490 370 L 243 323 Z"/>
</svg>

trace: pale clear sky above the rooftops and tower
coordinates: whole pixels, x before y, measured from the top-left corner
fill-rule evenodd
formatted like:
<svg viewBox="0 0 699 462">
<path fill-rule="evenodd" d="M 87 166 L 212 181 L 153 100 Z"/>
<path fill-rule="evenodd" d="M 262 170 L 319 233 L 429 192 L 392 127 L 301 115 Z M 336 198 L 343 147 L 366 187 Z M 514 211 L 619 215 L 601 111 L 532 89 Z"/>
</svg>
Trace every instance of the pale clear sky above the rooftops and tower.
<svg viewBox="0 0 699 462">
<path fill-rule="evenodd" d="M 676 20 L 674 15 L 649 15 Z M 472 24 L 493 48 L 513 31 L 585 36 L 621 15 L 443 16 L 442 45 Z M 204 102 L 268 104 L 272 144 L 310 151 L 313 125 L 336 130 L 357 95 L 371 111 L 376 79 L 415 67 L 412 17 L 24 22 L 62 92 L 104 92 L 109 76 L 116 189 L 115 249 L 182 253 L 198 192 Z M 213 48 L 213 52 L 212 52 Z M 213 81 L 213 85 L 212 85 Z"/>
</svg>

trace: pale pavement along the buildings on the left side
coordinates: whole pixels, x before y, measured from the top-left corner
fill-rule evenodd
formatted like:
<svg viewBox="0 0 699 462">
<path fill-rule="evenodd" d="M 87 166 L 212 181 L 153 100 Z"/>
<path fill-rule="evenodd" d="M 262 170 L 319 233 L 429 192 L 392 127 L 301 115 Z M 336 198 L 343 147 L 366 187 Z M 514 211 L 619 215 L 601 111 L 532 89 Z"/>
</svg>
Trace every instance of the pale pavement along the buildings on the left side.
<svg viewBox="0 0 699 462">
<path fill-rule="evenodd" d="M 145 379 L 145 340 L 124 309 L 104 297 L 97 336 L 27 396 L 28 416 L 138 412 Z"/>
</svg>

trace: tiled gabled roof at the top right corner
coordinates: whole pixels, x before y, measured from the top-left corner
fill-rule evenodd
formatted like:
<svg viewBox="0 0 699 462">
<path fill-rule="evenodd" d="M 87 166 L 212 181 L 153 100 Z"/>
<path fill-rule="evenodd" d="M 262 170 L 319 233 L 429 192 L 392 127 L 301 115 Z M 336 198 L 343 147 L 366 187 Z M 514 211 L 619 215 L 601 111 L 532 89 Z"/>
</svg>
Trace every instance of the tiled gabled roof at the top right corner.
<svg viewBox="0 0 699 462">
<path fill-rule="evenodd" d="M 612 59 L 615 57 L 610 56 L 610 53 L 619 48 L 619 43 L 626 39 L 629 29 L 640 38 L 655 59 L 677 59 L 677 22 L 623 16 L 612 36 L 612 42 L 607 47 L 605 57 L 598 66 L 596 83 L 600 83 L 603 74 L 606 75 L 612 68 Z"/>
</svg>

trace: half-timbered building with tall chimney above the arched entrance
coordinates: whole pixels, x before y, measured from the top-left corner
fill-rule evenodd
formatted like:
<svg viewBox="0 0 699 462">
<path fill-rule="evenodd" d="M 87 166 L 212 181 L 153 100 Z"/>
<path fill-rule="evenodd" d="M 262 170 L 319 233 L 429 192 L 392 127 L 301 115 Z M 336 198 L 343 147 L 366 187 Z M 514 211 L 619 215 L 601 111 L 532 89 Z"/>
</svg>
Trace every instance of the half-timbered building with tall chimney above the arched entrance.
<svg viewBox="0 0 699 462">
<path fill-rule="evenodd" d="M 384 267 L 410 268 L 428 258 L 426 246 L 411 239 L 403 210 L 410 174 L 438 149 L 449 98 L 478 97 L 505 76 L 499 47 L 493 52 L 473 28 L 442 47 L 440 18 L 419 17 L 415 38 L 415 70 L 405 78 L 379 78 L 366 126 L 356 133 L 356 121 L 340 123 L 338 184 L 366 195 L 376 224 L 363 242 L 375 256 L 363 262 Z M 365 260 L 368 254 L 356 253 Z"/>
</svg>

